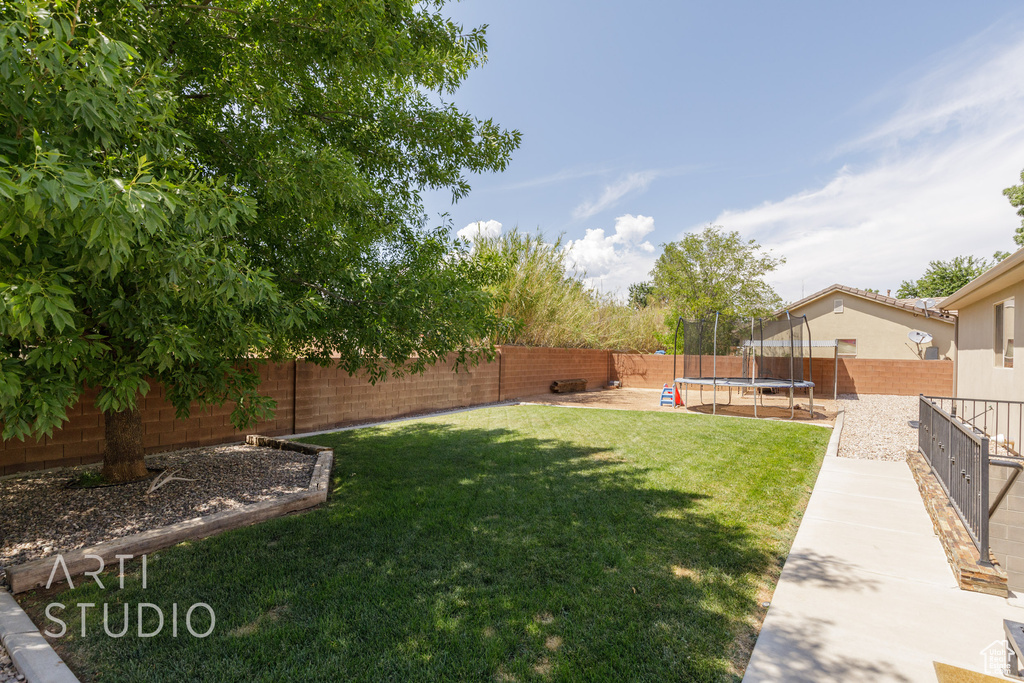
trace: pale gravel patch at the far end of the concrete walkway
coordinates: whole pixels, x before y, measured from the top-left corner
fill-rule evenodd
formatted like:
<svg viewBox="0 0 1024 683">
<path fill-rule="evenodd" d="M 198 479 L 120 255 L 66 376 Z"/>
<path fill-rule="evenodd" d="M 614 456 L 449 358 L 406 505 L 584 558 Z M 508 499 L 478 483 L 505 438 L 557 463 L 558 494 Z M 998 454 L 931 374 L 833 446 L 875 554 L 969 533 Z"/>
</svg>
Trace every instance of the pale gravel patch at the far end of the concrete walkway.
<svg viewBox="0 0 1024 683">
<path fill-rule="evenodd" d="M 840 458 L 860 460 L 905 460 L 906 450 L 918 445 L 916 396 L 840 394 L 839 407 L 846 411 Z"/>
</svg>

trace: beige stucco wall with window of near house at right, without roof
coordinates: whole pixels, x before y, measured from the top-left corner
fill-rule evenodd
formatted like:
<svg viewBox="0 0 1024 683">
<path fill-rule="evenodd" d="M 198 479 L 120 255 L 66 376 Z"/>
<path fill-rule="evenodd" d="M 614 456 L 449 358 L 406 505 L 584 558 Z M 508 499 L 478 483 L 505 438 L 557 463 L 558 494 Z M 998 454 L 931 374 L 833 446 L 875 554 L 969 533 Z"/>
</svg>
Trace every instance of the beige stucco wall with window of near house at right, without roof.
<svg viewBox="0 0 1024 683">
<path fill-rule="evenodd" d="M 1014 297 L 1014 360 L 1001 368 L 995 361 L 995 304 Z M 965 306 L 959 313 L 959 353 L 956 357 L 956 395 L 965 398 L 1024 400 L 1024 281 Z"/>
</svg>

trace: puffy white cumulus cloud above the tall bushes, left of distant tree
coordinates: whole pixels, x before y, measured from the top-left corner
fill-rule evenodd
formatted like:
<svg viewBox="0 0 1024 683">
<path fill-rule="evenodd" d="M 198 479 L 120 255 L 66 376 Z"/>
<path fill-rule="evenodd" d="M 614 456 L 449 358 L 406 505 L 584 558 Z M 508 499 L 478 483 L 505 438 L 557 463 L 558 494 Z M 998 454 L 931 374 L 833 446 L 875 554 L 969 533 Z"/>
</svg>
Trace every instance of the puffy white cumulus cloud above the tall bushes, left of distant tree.
<svg viewBox="0 0 1024 683">
<path fill-rule="evenodd" d="M 625 292 L 635 282 L 647 280 L 654 265 L 655 249 L 644 238 L 654 230 L 650 216 L 626 214 L 615 218 L 611 234 L 588 229 L 580 240 L 565 245 L 565 262 L 587 272 L 587 284 L 605 293 Z"/>
</svg>

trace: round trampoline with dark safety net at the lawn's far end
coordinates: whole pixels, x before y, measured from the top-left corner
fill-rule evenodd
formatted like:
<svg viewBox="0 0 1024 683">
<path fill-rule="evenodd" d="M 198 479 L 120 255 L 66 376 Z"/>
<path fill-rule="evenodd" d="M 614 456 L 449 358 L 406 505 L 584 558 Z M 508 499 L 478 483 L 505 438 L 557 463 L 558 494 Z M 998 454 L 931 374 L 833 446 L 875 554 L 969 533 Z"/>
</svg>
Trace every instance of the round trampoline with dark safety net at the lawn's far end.
<svg viewBox="0 0 1024 683">
<path fill-rule="evenodd" d="M 683 329 L 683 374 L 676 374 L 676 358 L 679 348 L 679 330 Z M 806 336 L 805 336 L 806 334 Z M 758 417 L 758 396 L 764 407 L 764 391 L 788 391 L 790 417 L 796 416 L 794 391 L 807 389 L 810 396 L 810 413 L 814 415 L 814 381 L 811 364 L 807 364 L 804 375 L 804 350 L 810 349 L 811 329 L 806 315 L 777 319 L 731 318 L 715 313 L 714 317 L 700 321 L 676 322 L 672 375 L 675 385 L 682 385 L 684 403 L 689 404 L 689 386 L 700 387 L 700 402 L 703 404 L 703 387 L 712 387 L 712 414 L 718 413 L 718 387 L 728 388 L 729 403 L 732 403 L 732 389 L 743 392 L 754 391 L 754 417 Z M 834 346 L 820 344 L 822 346 Z M 810 357 L 808 352 L 807 356 Z M 718 375 L 721 358 L 722 377 Z M 739 374 L 735 373 L 739 364 Z"/>
</svg>

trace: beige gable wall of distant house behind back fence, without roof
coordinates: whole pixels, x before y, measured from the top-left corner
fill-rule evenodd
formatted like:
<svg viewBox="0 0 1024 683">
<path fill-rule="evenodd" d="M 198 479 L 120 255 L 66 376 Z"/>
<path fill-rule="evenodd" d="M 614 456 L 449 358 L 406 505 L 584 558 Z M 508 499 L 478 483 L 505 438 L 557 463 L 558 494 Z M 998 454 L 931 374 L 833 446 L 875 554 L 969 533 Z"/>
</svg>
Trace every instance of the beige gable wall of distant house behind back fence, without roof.
<svg viewBox="0 0 1024 683">
<path fill-rule="evenodd" d="M 843 299 L 842 313 L 833 312 L 833 302 Z M 884 303 L 862 299 L 848 292 L 834 292 L 791 310 L 807 315 L 815 340 L 856 339 L 858 358 L 895 358 L 911 360 L 925 357 L 925 347 L 937 346 L 939 357 L 953 357 L 953 326 L 900 310 Z M 907 338 L 911 330 L 932 335 L 928 344 L 918 346 Z M 815 356 L 831 355 L 833 349 L 815 349 Z"/>
</svg>

